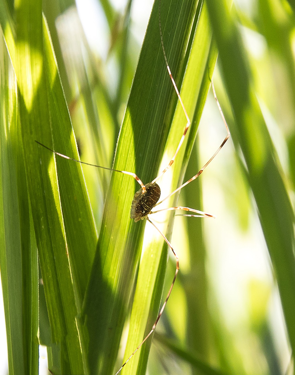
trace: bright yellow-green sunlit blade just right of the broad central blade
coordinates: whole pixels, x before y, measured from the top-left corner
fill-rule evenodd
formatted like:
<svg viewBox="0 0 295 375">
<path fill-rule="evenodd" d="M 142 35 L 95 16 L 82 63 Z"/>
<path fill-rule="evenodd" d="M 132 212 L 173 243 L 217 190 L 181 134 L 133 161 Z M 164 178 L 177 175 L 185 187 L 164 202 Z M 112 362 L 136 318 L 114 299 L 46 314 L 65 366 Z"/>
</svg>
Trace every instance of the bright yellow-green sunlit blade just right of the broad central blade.
<svg viewBox="0 0 295 375">
<path fill-rule="evenodd" d="M 195 6 L 196 5 L 197 2 L 195 3 Z M 171 7 L 176 7 L 176 4 L 173 3 Z M 190 118 L 193 118 L 193 121 L 190 133 L 186 139 L 186 148 L 183 148 L 180 151 L 175 161 L 175 165 L 171 168 L 171 171 L 166 172 L 166 174 L 161 179 L 161 187 L 164 185 L 166 190 L 166 193 L 163 193 L 163 197 L 165 197 L 165 195 L 179 186 L 179 184 L 183 180 L 188 157 L 190 155 L 191 148 L 196 137 L 200 115 L 202 114 L 203 105 L 205 104 L 205 99 L 208 93 L 210 77 L 212 75 L 217 58 L 216 48 L 211 43 L 211 31 L 208 27 L 208 15 L 206 7 L 198 6 L 195 12 L 195 23 L 193 24 L 193 28 L 188 28 L 187 30 L 187 39 L 190 39 L 192 36 L 194 37 L 194 39 L 191 45 L 191 49 L 186 51 L 187 56 L 189 55 L 189 58 L 186 57 L 186 60 L 188 60 L 188 62 L 181 87 L 182 100 L 184 101 L 185 108 L 187 109 Z M 187 16 L 184 16 L 184 19 L 187 20 Z M 170 29 L 168 30 L 171 32 Z M 192 33 L 192 36 L 190 33 Z M 172 49 L 169 49 L 168 51 L 170 56 L 172 56 L 173 51 L 175 53 L 176 51 L 175 49 L 173 49 L 173 45 L 170 48 Z M 169 137 L 164 149 L 166 161 L 163 162 L 161 168 L 167 163 L 167 160 L 169 160 L 169 156 L 177 147 L 183 126 L 183 113 L 180 105 L 178 104 L 174 114 Z M 167 205 L 176 205 L 176 202 L 177 197 L 173 197 L 173 199 L 170 199 L 170 203 Z M 163 231 L 163 233 L 168 233 L 168 236 L 170 237 L 172 227 L 173 220 L 170 219 L 168 226 L 166 222 L 166 226 L 161 226 L 161 230 Z M 146 236 L 149 240 L 147 240 L 146 246 L 143 247 L 143 255 L 140 261 L 137 288 L 135 291 L 129 327 L 129 336 L 124 357 L 125 360 L 130 356 L 132 351 L 134 351 L 137 345 L 140 344 L 141 340 L 151 330 L 151 327 L 158 315 L 160 300 L 163 293 L 164 274 L 167 263 L 167 246 L 166 244 L 164 244 L 163 246 L 163 238 L 158 236 L 157 233 L 153 233 L 153 229 L 151 231 L 149 229 L 150 228 L 146 228 Z M 154 241 L 151 241 L 151 238 L 154 238 Z M 160 250 L 161 248 L 162 251 Z M 175 249 L 175 251 L 177 253 L 177 249 Z M 167 291 L 164 292 L 164 298 L 166 297 L 166 293 Z M 142 348 L 138 350 L 138 353 L 136 353 L 135 358 L 133 358 L 132 361 L 128 363 L 128 366 L 123 369 L 122 373 L 145 374 L 150 346 L 151 340 L 144 343 Z"/>
</svg>

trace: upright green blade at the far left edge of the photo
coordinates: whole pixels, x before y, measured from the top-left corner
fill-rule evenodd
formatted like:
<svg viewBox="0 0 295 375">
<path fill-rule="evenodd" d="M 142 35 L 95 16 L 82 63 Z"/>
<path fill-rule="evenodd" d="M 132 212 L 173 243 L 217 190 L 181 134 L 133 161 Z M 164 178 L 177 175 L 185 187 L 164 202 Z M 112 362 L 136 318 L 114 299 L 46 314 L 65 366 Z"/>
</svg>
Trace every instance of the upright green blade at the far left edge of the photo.
<svg viewBox="0 0 295 375">
<path fill-rule="evenodd" d="M 0 50 L 0 269 L 9 373 L 37 375 L 37 251 L 17 134 L 17 83 L 3 38 Z"/>
</svg>

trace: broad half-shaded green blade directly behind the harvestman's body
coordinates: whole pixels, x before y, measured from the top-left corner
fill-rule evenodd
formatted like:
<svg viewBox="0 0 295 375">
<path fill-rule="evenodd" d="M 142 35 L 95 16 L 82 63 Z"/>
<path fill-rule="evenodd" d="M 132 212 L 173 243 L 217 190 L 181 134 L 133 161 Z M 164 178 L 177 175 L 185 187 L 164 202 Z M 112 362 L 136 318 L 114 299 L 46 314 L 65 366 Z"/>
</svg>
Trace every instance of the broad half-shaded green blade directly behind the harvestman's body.
<svg viewBox="0 0 295 375">
<path fill-rule="evenodd" d="M 175 107 L 177 98 L 164 64 L 160 45 L 158 6 L 158 2 L 156 2 L 147 28 L 114 162 L 114 168 L 135 171 L 144 183 L 151 181 L 157 175 L 163 152 L 167 153 L 165 163 L 170 160 L 185 126 L 184 114 L 179 104 Z M 187 1 L 171 3 L 163 1 L 161 3 L 164 45 L 173 77 L 179 87 L 188 58 L 186 47 L 190 40 L 196 6 L 197 2 Z M 201 33 L 204 33 L 204 40 L 206 40 L 204 51 L 201 48 L 202 52 L 200 53 L 200 48 L 197 49 L 195 45 L 194 53 L 197 51 L 201 57 L 199 60 L 192 60 L 186 83 L 189 88 L 187 88 L 188 93 L 185 96 L 187 98 L 185 105 L 189 108 L 191 118 L 198 95 L 200 94 L 203 101 L 210 83 L 206 66 L 207 60 L 205 59 L 204 63 L 204 55 L 208 56 L 209 54 L 211 39 L 205 24 L 202 26 Z M 196 75 L 197 70 L 200 70 L 200 75 Z M 203 88 L 204 91 L 199 93 L 203 77 L 206 77 L 206 89 Z M 175 108 L 177 108 L 175 120 L 173 127 L 170 128 Z M 169 129 L 170 133 L 166 142 Z M 192 137 L 192 141 L 193 139 L 194 137 Z M 176 177 L 173 177 L 173 183 L 171 184 L 171 181 L 163 183 L 169 190 L 172 186 L 176 186 L 180 172 L 184 172 L 181 163 L 184 151 L 185 145 L 178 156 L 179 162 L 175 163 L 174 169 L 177 174 Z M 169 176 L 167 177 L 169 180 L 171 175 L 167 174 L 167 176 Z M 86 324 L 90 335 L 89 348 L 92 350 L 89 350 L 91 369 L 99 374 L 109 373 L 113 368 L 140 255 L 144 223 L 134 223 L 129 218 L 131 201 L 138 188 L 139 185 L 130 177 L 113 173 L 85 301 Z M 163 196 L 165 196 L 165 192 Z M 161 249 L 162 245 L 163 239 L 160 239 L 160 245 L 157 248 Z M 162 260 L 160 263 L 163 271 L 159 273 L 162 284 L 166 268 L 167 256 L 165 254 L 167 254 L 166 248 L 162 252 L 162 256 L 160 251 L 157 255 Z M 150 266 L 151 264 L 149 264 Z M 153 272 L 157 274 L 157 267 L 153 269 Z M 161 282 L 159 282 L 157 291 L 157 302 L 153 306 L 154 315 L 155 311 L 158 311 L 162 294 Z M 145 283 L 145 290 L 150 293 L 153 290 L 152 285 L 152 283 L 149 285 Z M 135 302 L 135 304 L 138 303 Z M 139 323 L 145 330 L 146 320 L 142 319 L 141 321 L 141 318 Z M 150 328 L 152 324 L 148 326 Z M 143 332 L 140 335 L 143 337 Z M 133 351 L 141 339 L 138 340 L 135 337 L 132 341 L 133 344 L 130 344 L 130 347 L 132 346 Z M 145 351 L 143 362 L 146 362 L 147 353 L 148 350 Z M 141 371 L 144 371 L 144 367 L 143 364 Z"/>
</svg>

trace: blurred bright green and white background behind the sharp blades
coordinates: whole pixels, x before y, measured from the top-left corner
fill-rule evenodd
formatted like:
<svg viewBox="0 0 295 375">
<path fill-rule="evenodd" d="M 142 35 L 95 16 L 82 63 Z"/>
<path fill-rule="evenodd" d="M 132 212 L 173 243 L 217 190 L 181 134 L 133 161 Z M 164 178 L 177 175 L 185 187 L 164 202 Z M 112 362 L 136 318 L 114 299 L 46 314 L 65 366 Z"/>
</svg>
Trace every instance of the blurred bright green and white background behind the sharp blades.
<svg viewBox="0 0 295 375">
<path fill-rule="evenodd" d="M 152 5 L 42 2 L 81 160 L 113 165 Z M 208 0 L 208 10 L 219 51 L 213 80 L 232 138 L 180 194 L 179 205 L 216 218 L 176 214 L 171 242 L 181 271 L 157 326 L 147 374 L 294 374 L 295 5 Z M 210 90 L 186 179 L 225 135 Z M 83 167 L 83 173 L 99 233 L 110 172 Z M 169 256 L 163 296 L 174 272 Z M 128 321 L 116 368 L 127 335 Z M 47 373 L 43 356 L 40 374 Z"/>
</svg>

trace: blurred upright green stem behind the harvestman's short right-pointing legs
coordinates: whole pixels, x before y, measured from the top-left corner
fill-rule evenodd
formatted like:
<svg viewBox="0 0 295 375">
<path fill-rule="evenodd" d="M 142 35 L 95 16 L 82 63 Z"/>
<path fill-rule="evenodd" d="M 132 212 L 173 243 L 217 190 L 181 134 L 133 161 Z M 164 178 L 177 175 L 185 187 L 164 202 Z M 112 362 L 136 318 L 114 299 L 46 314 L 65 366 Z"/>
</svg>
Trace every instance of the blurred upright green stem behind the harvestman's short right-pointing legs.
<svg viewBox="0 0 295 375">
<path fill-rule="evenodd" d="M 200 140 L 200 137 L 197 137 L 197 139 Z M 195 173 L 196 165 L 199 165 L 199 152 L 197 147 L 194 146 L 188 162 L 185 180 L 188 180 Z M 185 206 L 203 210 L 202 184 L 199 178 L 184 189 L 183 195 Z M 179 219 L 181 220 L 180 217 Z M 190 220 L 190 218 L 185 220 L 190 264 L 189 270 L 183 275 L 182 287 L 187 303 L 186 345 L 192 353 L 197 352 L 203 360 L 208 360 L 212 345 L 212 326 L 208 306 L 209 291 L 203 227 L 203 220 Z"/>
</svg>

